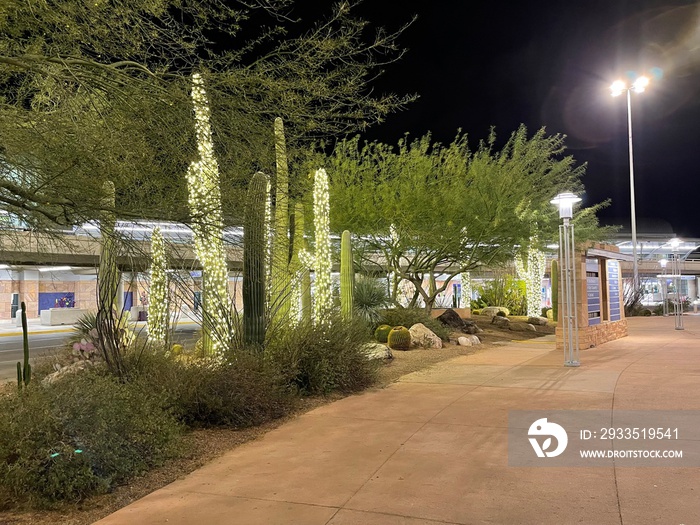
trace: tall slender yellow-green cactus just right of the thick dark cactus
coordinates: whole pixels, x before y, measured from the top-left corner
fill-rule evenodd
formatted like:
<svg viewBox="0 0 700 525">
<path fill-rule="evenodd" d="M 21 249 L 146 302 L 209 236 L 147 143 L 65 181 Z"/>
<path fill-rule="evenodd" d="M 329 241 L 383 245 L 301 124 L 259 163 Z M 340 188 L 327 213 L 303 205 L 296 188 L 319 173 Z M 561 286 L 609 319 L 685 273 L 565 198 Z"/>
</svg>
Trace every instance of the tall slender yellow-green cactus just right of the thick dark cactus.
<svg viewBox="0 0 700 525">
<path fill-rule="evenodd" d="M 275 185 L 275 221 L 272 240 L 270 304 L 274 318 L 285 322 L 291 305 L 289 273 L 289 169 L 287 146 L 284 139 L 284 123 L 275 119 L 275 161 L 277 184 Z"/>
</svg>

